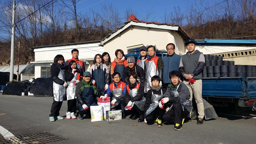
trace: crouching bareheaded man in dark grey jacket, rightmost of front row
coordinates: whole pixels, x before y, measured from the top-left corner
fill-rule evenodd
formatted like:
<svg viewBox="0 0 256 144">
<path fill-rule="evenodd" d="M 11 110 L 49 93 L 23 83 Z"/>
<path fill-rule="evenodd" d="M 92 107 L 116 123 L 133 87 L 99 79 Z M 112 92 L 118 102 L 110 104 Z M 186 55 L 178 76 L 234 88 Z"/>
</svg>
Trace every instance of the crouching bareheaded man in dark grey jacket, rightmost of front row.
<svg viewBox="0 0 256 144">
<path fill-rule="evenodd" d="M 169 78 L 172 83 L 168 85 L 166 93 L 163 95 L 164 98 L 159 103 L 159 107 L 166 109 L 163 119 L 166 121 L 174 120 L 174 130 L 180 130 L 185 117 L 189 115 L 192 109 L 192 102 L 189 100 L 190 92 L 188 87 L 179 81 L 180 72 L 170 72 Z M 169 106 L 163 107 L 163 105 Z"/>
</svg>

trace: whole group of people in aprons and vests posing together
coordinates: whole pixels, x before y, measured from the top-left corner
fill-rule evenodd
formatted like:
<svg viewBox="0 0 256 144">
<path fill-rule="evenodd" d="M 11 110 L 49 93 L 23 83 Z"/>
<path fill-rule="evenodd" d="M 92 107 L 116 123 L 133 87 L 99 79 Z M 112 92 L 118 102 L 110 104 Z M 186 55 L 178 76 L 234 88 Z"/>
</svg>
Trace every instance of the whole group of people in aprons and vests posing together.
<svg viewBox="0 0 256 144">
<path fill-rule="evenodd" d="M 192 97 L 198 107 L 197 124 L 203 124 L 202 70 L 204 55 L 195 50 L 196 42 L 185 42 L 188 52 L 175 53 L 175 44 L 166 45 L 167 55 L 159 58 L 155 46 L 140 47 L 140 58 L 127 60 L 124 52 L 117 49 L 111 62 L 108 52 L 94 57 L 90 71 L 78 59 L 79 51 L 71 51 L 72 59 L 64 64 L 64 57 L 56 55 L 51 67 L 54 100 L 49 121 L 64 119 L 59 116 L 62 102 L 67 98 L 66 118 L 90 118 L 90 106 L 96 106 L 96 98 L 111 98 L 111 110 L 121 109 L 122 118 L 146 124 L 174 121 L 174 130 L 180 130 L 185 118 L 190 118 Z M 183 80 L 183 81 L 182 81 Z M 85 117 L 84 117 L 85 115 Z"/>
</svg>

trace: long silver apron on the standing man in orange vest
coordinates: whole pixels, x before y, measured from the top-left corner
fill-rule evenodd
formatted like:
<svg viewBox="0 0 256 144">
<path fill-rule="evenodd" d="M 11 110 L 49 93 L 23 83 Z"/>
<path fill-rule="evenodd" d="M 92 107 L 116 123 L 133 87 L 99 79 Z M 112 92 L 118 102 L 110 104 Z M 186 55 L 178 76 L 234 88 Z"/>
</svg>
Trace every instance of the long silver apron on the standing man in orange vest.
<svg viewBox="0 0 256 144">
<path fill-rule="evenodd" d="M 154 75 L 158 75 L 157 66 L 154 63 L 154 59 L 151 61 L 147 61 L 146 63 L 146 76 L 145 76 L 145 93 L 147 93 L 152 86 L 151 78 Z"/>
</svg>

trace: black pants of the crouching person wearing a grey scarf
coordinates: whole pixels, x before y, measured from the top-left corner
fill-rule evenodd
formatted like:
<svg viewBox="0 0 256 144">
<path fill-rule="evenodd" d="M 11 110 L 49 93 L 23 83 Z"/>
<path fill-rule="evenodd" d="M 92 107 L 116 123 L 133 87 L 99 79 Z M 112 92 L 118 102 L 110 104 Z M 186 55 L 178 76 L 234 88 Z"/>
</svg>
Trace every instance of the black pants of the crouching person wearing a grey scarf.
<svg viewBox="0 0 256 144">
<path fill-rule="evenodd" d="M 148 124 L 154 123 L 155 119 L 158 118 L 160 120 L 163 120 L 163 114 L 165 113 L 165 109 L 160 109 L 160 107 L 157 107 L 154 109 L 153 112 L 149 113 L 145 116 L 145 119 Z"/>
</svg>

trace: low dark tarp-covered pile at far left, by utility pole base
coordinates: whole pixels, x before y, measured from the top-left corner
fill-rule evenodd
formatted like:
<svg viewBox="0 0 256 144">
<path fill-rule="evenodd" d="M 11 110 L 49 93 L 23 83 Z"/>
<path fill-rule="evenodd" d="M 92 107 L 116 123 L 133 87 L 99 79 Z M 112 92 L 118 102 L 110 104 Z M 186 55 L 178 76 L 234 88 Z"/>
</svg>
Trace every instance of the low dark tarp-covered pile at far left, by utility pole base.
<svg viewBox="0 0 256 144">
<path fill-rule="evenodd" d="M 29 82 L 10 82 L 3 89 L 3 95 L 21 95 L 21 92 L 25 92 L 25 95 L 28 95 L 27 88 L 29 85 Z"/>
</svg>

